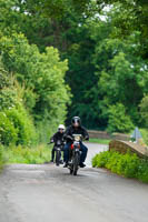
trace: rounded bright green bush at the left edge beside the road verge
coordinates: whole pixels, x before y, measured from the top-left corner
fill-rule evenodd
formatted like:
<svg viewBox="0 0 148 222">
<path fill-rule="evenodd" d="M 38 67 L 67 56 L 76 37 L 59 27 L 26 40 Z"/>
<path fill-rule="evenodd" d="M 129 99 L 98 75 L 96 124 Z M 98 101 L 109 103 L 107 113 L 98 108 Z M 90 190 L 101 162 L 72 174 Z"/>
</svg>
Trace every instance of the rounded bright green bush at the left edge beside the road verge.
<svg viewBox="0 0 148 222">
<path fill-rule="evenodd" d="M 37 141 L 34 127 L 23 107 L 0 112 L 0 142 L 30 145 Z"/>
</svg>

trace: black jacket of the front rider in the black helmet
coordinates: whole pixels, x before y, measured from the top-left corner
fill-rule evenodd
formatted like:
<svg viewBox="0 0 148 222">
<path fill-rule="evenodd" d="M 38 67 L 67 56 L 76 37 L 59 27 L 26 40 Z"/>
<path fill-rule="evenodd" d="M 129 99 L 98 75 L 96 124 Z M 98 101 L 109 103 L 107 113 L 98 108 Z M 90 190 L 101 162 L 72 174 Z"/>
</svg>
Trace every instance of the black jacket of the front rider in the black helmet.
<svg viewBox="0 0 148 222">
<path fill-rule="evenodd" d="M 70 135 L 72 138 L 72 134 L 81 134 L 83 137 L 83 139 L 89 140 L 89 134 L 87 132 L 87 130 L 83 127 L 79 127 L 79 128 L 75 128 L 72 125 L 68 127 L 66 132 L 65 132 L 65 140 L 67 140 L 67 142 L 72 142 L 68 135 Z"/>
</svg>

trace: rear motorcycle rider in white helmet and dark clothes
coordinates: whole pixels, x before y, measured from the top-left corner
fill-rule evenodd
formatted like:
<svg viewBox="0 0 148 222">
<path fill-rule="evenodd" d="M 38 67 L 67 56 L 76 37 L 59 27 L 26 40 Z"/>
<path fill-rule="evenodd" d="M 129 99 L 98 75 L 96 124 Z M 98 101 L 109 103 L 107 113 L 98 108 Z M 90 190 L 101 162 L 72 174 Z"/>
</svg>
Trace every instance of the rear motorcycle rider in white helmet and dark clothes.
<svg viewBox="0 0 148 222">
<path fill-rule="evenodd" d="M 59 124 L 58 127 L 58 132 L 56 132 L 51 138 L 50 138 L 50 142 L 55 143 L 52 150 L 51 150 L 51 161 L 50 162 L 53 162 L 55 161 L 55 152 L 56 152 L 56 144 L 57 142 L 60 140 L 62 144 L 63 143 L 63 133 L 65 133 L 65 125 L 63 124 Z"/>
</svg>

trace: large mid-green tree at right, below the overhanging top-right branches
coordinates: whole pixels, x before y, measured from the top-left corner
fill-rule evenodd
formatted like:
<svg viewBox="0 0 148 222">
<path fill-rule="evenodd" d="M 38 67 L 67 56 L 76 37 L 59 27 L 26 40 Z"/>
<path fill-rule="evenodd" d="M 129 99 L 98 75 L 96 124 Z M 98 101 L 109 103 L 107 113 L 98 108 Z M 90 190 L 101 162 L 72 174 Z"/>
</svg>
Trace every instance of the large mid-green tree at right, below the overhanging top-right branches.
<svg viewBox="0 0 148 222">
<path fill-rule="evenodd" d="M 98 26 L 98 30 L 92 36 L 96 41 L 100 37 L 99 29 Z M 127 113 L 134 123 L 140 124 L 138 104 L 146 90 L 148 70 L 147 62 L 137 56 L 139 44 L 134 43 L 139 34 L 135 33 L 127 40 L 119 40 L 110 39 L 109 33 L 105 33 L 106 38 L 96 44 L 93 56 L 102 115 L 105 113 L 105 118 L 108 117 L 108 105 L 120 102 L 127 108 Z"/>
</svg>

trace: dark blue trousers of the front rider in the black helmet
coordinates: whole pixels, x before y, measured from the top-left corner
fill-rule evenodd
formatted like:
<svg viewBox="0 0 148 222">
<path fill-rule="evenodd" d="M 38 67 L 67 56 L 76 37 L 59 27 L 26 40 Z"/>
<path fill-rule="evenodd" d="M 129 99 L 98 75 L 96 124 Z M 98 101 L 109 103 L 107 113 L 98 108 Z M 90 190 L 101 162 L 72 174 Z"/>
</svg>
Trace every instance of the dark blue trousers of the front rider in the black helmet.
<svg viewBox="0 0 148 222">
<path fill-rule="evenodd" d="M 69 160 L 70 145 L 71 145 L 71 143 L 66 143 L 66 145 L 63 148 L 63 162 L 68 162 L 68 160 Z M 83 145 L 83 143 L 81 142 L 80 149 L 81 149 L 80 163 L 83 163 L 87 158 L 88 148 L 86 145 Z"/>
</svg>

